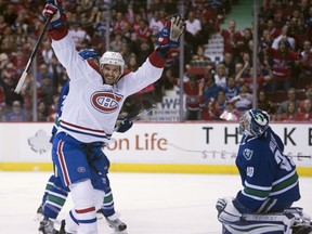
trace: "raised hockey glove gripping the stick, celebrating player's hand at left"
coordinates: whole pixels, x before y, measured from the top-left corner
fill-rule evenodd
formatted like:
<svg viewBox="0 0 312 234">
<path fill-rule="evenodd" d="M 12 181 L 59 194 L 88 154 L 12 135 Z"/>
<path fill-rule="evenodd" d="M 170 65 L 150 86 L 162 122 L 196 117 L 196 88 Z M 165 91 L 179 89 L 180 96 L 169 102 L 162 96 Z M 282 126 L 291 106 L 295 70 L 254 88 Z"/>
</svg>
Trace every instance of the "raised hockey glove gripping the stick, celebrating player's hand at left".
<svg viewBox="0 0 312 234">
<path fill-rule="evenodd" d="M 52 17 L 49 30 L 60 28 L 67 24 L 67 17 L 63 10 L 62 0 L 48 0 L 42 11 L 44 18 Z"/>
</svg>

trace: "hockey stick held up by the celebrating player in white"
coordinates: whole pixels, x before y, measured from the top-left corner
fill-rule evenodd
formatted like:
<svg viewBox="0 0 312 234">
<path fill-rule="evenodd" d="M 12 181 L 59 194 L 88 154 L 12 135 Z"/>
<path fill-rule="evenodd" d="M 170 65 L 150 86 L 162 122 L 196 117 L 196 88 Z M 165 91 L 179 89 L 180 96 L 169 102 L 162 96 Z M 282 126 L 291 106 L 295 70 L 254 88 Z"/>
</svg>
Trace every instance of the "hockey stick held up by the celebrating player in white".
<svg viewBox="0 0 312 234">
<path fill-rule="evenodd" d="M 16 86 L 16 88 L 14 90 L 15 93 L 20 93 L 21 90 L 22 90 L 22 87 L 23 87 L 23 84 L 25 82 L 25 79 L 27 77 L 27 74 L 29 72 L 29 67 L 30 67 L 30 65 L 31 65 L 31 63 L 32 63 L 32 61 L 34 61 L 34 58 L 36 56 L 37 50 L 38 50 L 38 48 L 39 48 L 39 46 L 40 46 L 40 43 L 41 43 L 41 41 L 43 39 L 43 36 L 44 36 L 44 34 L 46 34 L 46 31 L 48 29 L 48 25 L 50 24 L 51 20 L 52 20 L 52 16 L 48 17 L 48 20 L 44 23 L 44 26 L 43 26 L 43 28 L 41 30 L 39 39 L 37 40 L 36 46 L 35 46 L 35 48 L 31 51 L 30 57 L 29 57 L 29 60 L 27 62 L 27 65 L 26 65 L 24 72 L 23 72 L 23 74 L 22 74 L 22 76 L 21 76 L 21 78 L 20 78 L 20 80 L 17 82 L 17 86 Z"/>
</svg>

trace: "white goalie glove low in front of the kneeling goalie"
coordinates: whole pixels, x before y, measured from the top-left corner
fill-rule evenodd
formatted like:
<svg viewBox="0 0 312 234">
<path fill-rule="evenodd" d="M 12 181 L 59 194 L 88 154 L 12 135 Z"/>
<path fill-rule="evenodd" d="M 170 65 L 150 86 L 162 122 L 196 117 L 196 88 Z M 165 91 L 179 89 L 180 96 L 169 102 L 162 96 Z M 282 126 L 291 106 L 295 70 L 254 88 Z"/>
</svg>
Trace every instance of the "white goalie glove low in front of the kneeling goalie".
<svg viewBox="0 0 312 234">
<path fill-rule="evenodd" d="M 219 198 L 216 208 L 218 220 L 223 224 L 238 222 L 242 218 L 242 213 L 233 205 L 233 197 Z"/>
</svg>

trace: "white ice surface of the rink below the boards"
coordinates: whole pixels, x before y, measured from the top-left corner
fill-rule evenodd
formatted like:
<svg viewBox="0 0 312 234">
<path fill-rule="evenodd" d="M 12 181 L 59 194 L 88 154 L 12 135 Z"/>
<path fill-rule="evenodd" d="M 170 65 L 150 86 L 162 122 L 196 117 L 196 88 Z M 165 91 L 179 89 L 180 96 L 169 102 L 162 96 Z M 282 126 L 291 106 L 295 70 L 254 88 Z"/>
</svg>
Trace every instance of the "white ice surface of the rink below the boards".
<svg viewBox="0 0 312 234">
<path fill-rule="evenodd" d="M 34 221 L 50 172 L 0 171 L 0 233 L 35 234 Z M 116 210 L 128 224 L 129 234 L 221 234 L 216 200 L 235 196 L 238 176 L 110 173 Z M 312 178 L 300 178 L 301 200 L 312 214 Z M 60 214 L 66 216 L 70 196 Z M 99 233 L 113 233 L 104 220 Z"/>
</svg>

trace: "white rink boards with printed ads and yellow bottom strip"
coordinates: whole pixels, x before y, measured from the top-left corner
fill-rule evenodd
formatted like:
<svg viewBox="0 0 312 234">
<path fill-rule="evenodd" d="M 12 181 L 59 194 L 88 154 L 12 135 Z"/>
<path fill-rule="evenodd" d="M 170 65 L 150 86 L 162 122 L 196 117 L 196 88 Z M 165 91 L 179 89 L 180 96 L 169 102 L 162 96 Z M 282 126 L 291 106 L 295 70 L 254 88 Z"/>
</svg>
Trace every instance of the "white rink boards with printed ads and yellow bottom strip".
<svg viewBox="0 0 312 234">
<path fill-rule="evenodd" d="M 312 177 L 311 123 L 272 123 L 301 176 Z M 0 123 L 0 170 L 48 171 L 52 123 Z M 235 122 L 135 122 L 104 148 L 110 171 L 237 173 Z"/>
</svg>

